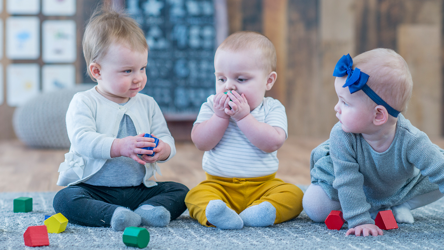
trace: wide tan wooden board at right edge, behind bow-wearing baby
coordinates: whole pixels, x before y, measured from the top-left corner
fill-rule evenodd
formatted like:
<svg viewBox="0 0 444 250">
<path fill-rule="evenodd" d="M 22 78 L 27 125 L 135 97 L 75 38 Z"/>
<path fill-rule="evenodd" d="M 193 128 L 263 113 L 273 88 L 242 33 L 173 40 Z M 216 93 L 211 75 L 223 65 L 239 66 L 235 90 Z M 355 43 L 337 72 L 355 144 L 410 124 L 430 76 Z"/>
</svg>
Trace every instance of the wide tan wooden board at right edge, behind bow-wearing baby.
<svg viewBox="0 0 444 250">
<path fill-rule="evenodd" d="M 433 24 L 403 24 L 397 32 L 399 53 L 413 79 L 412 99 L 404 115 L 429 136 L 441 132 L 440 37 L 440 26 Z"/>
</svg>

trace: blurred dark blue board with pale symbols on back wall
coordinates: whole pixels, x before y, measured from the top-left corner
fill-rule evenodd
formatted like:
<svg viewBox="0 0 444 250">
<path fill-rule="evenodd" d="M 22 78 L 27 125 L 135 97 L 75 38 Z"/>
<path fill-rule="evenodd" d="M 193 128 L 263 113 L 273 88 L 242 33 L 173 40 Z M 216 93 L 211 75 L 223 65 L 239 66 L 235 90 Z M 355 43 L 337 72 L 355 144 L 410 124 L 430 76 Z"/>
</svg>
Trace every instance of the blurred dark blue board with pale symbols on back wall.
<svg viewBox="0 0 444 250">
<path fill-rule="evenodd" d="M 215 93 L 214 5 L 211 0 L 127 0 L 150 52 L 147 85 L 163 113 L 197 114 Z"/>
</svg>

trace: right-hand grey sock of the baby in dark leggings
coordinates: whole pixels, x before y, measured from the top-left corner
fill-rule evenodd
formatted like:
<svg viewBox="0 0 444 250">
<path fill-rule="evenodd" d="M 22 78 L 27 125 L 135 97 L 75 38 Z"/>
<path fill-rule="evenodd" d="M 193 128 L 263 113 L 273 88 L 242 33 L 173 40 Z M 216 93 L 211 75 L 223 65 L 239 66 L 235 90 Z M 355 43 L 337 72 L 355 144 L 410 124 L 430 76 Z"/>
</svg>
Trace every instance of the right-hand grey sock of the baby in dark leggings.
<svg viewBox="0 0 444 250">
<path fill-rule="evenodd" d="M 163 206 L 142 205 L 134 210 L 142 217 L 142 226 L 165 227 L 170 223 L 171 214 Z"/>
</svg>

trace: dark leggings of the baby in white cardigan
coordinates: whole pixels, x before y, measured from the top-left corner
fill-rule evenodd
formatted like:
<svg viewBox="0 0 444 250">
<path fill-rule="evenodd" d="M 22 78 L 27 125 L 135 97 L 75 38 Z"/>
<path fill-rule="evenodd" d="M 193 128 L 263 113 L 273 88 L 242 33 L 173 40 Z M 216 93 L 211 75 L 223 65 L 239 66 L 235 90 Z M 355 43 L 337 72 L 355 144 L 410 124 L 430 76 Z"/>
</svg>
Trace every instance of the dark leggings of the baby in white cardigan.
<svg viewBox="0 0 444 250">
<path fill-rule="evenodd" d="M 52 206 L 69 222 L 82 226 L 109 227 L 114 210 L 127 207 L 135 210 L 148 204 L 163 206 L 171 213 L 171 219 L 186 210 L 185 196 L 188 188 L 175 182 L 157 182 L 157 186 L 102 187 L 79 183 L 60 190 Z"/>
</svg>

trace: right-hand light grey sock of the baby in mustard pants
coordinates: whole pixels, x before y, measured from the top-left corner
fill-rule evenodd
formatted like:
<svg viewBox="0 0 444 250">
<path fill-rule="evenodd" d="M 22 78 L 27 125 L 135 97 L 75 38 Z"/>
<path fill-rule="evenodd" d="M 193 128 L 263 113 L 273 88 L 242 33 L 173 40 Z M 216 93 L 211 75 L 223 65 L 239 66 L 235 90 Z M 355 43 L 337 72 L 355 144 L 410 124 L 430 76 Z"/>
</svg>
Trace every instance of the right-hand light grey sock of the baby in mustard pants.
<svg viewBox="0 0 444 250">
<path fill-rule="evenodd" d="M 239 214 L 244 226 L 271 226 L 276 219 L 276 208 L 270 202 L 250 206 Z"/>
</svg>

